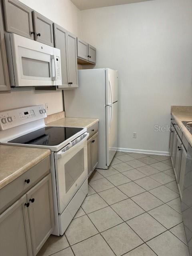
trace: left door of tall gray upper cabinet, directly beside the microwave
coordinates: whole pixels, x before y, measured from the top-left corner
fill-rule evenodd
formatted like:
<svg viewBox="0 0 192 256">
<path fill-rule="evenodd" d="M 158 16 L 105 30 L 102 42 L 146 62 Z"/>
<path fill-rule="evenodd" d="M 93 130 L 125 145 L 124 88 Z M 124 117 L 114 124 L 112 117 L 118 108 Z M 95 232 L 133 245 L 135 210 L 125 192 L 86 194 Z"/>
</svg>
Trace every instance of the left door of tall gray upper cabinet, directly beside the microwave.
<svg viewBox="0 0 192 256">
<path fill-rule="evenodd" d="M 61 51 L 61 74 L 62 86 L 59 88 L 68 88 L 68 56 L 67 56 L 67 30 L 54 23 L 54 46 Z"/>
</svg>

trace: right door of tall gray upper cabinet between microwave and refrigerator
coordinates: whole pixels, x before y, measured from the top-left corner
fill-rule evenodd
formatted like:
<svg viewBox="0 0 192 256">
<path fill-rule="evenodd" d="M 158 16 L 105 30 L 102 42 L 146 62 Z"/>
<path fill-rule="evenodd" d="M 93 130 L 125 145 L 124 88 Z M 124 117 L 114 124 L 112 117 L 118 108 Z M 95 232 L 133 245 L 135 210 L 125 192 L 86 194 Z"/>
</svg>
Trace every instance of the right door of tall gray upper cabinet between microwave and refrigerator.
<svg viewBox="0 0 192 256">
<path fill-rule="evenodd" d="M 67 32 L 67 45 L 68 45 L 68 71 L 70 87 L 78 87 L 77 78 L 77 41 L 76 36 Z"/>
</svg>

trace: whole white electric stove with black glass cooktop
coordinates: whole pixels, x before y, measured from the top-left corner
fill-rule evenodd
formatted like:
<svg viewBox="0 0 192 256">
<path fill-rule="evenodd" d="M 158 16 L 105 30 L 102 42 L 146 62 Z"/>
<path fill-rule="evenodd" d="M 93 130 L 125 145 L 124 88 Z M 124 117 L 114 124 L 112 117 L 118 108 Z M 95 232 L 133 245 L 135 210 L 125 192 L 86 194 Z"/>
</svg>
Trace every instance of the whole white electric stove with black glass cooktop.
<svg viewBox="0 0 192 256">
<path fill-rule="evenodd" d="M 55 228 L 63 235 L 88 193 L 86 128 L 46 126 L 43 105 L 0 112 L 0 143 L 51 150 Z"/>
</svg>

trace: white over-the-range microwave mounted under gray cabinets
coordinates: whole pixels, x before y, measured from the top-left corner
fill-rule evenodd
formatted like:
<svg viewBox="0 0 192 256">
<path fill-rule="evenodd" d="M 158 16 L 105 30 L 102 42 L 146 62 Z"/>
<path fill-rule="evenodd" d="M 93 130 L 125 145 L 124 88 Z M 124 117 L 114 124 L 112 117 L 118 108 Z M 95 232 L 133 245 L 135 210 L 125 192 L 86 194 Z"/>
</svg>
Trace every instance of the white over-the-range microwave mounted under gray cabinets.
<svg viewBox="0 0 192 256">
<path fill-rule="evenodd" d="M 62 84 L 59 49 L 17 34 L 5 40 L 11 87 Z"/>
</svg>

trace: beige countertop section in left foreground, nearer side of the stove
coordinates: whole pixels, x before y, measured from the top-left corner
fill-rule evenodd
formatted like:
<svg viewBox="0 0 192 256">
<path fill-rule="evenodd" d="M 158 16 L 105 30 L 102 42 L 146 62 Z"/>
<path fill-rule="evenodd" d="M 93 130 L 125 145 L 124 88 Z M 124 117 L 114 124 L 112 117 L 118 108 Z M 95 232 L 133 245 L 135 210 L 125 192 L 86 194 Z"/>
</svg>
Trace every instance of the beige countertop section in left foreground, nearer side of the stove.
<svg viewBox="0 0 192 256">
<path fill-rule="evenodd" d="M 0 145 L 0 189 L 50 154 L 49 149 Z"/>
</svg>

